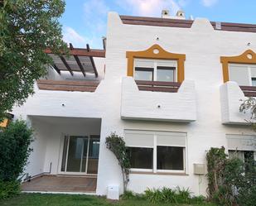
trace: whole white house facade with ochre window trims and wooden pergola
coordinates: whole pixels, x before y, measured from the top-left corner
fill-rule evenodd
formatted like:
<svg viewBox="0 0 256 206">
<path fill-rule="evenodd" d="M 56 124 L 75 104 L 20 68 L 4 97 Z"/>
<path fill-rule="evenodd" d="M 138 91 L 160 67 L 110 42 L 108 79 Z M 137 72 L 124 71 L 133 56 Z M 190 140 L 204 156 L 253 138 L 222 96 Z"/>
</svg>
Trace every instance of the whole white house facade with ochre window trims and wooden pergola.
<svg viewBox="0 0 256 206">
<path fill-rule="evenodd" d="M 105 146 L 116 132 L 131 159 L 128 189 L 206 195 L 210 147 L 256 156 L 250 114 L 239 113 L 241 99 L 256 96 L 255 33 L 256 25 L 109 12 L 105 50 L 70 46 L 71 59 L 47 51 L 56 65 L 12 111 L 35 130 L 28 176 L 85 176 L 96 180 L 91 192 L 121 194 Z"/>
</svg>

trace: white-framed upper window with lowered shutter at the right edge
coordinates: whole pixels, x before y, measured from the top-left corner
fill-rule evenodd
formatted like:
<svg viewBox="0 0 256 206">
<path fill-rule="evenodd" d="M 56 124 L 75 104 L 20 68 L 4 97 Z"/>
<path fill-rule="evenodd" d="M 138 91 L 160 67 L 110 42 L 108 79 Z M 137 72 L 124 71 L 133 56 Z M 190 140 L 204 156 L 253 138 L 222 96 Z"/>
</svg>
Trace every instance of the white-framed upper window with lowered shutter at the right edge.
<svg viewBox="0 0 256 206">
<path fill-rule="evenodd" d="M 256 86 L 256 65 L 229 64 L 229 80 L 240 86 Z"/>
</svg>

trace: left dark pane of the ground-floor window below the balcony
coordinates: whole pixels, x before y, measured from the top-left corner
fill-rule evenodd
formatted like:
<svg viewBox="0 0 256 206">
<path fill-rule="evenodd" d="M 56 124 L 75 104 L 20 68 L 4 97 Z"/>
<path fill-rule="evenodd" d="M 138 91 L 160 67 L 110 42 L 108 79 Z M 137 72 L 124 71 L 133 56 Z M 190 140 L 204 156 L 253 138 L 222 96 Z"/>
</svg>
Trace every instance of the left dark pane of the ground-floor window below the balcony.
<svg viewBox="0 0 256 206">
<path fill-rule="evenodd" d="M 142 147 L 128 147 L 128 156 L 131 168 L 152 169 L 153 168 L 153 149 Z"/>
</svg>

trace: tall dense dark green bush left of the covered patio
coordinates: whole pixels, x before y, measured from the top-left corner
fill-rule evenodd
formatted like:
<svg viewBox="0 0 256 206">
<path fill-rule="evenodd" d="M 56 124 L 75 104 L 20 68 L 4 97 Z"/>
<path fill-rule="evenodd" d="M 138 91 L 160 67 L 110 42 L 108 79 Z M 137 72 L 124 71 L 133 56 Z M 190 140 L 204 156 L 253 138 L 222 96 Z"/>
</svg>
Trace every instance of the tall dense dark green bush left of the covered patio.
<svg viewBox="0 0 256 206">
<path fill-rule="evenodd" d="M 31 153 L 32 131 L 26 122 L 17 120 L 0 132 L 0 199 L 19 191 L 22 175 Z"/>
</svg>

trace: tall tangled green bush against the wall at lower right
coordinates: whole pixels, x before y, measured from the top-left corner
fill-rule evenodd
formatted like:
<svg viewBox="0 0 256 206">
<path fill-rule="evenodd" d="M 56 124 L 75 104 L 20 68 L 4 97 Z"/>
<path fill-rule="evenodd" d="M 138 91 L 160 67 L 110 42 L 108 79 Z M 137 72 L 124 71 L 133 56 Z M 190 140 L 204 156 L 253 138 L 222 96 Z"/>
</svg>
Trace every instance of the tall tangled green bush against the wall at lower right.
<svg viewBox="0 0 256 206">
<path fill-rule="evenodd" d="M 225 148 L 211 148 L 206 155 L 209 198 L 218 205 L 254 206 L 256 203 L 256 165 L 228 159 Z"/>
</svg>

